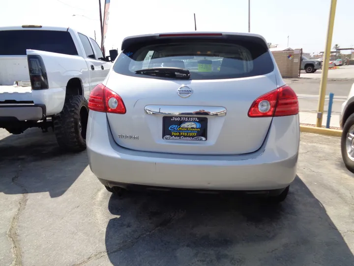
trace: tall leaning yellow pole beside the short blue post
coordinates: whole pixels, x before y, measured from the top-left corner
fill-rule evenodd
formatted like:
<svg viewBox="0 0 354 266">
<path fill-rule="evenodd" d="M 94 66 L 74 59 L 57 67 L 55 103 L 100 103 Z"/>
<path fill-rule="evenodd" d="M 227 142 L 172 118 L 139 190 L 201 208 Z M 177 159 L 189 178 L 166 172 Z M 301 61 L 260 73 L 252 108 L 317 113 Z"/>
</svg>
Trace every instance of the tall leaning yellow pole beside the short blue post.
<svg viewBox="0 0 354 266">
<path fill-rule="evenodd" d="M 332 45 L 332 35 L 333 35 L 333 26 L 334 26 L 334 17 L 335 9 L 337 5 L 337 0 L 331 0 L 331 7 L 329 11 L 329 20 L 328 20 L 328 29 L 327 29 L 327 39 L 324 47 L 324 61 L 322 65 L 322 77 L 320 84 L 320 93 L 319 93 L 319 103 L 317 108 L 317 122 L 316 127 L 322 127 L 322 118 L 324 112 L 324 98 L 325 91 L 327 87 L 327 78 L 328 78 L 328 64 L 330 58 L 330 50 Z"/>
</svg>

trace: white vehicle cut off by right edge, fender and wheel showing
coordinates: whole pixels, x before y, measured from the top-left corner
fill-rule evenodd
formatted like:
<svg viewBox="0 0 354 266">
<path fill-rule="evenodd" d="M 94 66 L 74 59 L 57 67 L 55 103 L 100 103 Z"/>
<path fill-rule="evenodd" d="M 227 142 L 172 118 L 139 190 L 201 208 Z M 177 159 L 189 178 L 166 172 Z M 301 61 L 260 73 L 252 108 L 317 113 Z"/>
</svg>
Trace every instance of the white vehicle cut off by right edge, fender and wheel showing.
<svg viewBox="0 0 354 266">
<path fill-rule="evenodd" d="M 342 104 L 339 119 L 342 128 L 341 151 L 345 166 L 354 172 L 354 84 L 348 98 Z"/>
</svg>

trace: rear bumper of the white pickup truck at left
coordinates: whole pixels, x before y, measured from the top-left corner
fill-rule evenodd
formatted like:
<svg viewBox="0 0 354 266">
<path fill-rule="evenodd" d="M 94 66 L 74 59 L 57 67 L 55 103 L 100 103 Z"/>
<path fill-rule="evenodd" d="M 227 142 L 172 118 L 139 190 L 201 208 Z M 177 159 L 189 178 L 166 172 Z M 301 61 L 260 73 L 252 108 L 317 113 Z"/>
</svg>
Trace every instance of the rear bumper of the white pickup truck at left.
<svg viewBox="0 0 354 266">
<path fill-rule="evenodd" d="M 38 121 L 44 118 L 44 104 L 0 104 L 0 122 Z"/>
</svg>

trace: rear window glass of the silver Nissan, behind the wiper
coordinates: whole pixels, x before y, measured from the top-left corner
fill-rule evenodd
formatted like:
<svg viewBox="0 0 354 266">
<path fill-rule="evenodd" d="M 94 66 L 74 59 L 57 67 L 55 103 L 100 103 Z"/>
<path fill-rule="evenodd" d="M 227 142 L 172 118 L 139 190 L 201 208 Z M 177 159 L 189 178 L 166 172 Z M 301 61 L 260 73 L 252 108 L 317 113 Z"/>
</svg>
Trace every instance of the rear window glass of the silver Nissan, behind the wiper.
<svg viewBox="0 0 354 266">
<path fill-rule="evenodd" d="M 163 78 L 135 73 L 151 67 L 188 69 L 190 79 L 202 80 L 258 76 L 274 69 L 267 47 L 259 42 L 196 39 L 128 47 L 119 55 L 114 70 L 129 76 Z"/>
</svg>

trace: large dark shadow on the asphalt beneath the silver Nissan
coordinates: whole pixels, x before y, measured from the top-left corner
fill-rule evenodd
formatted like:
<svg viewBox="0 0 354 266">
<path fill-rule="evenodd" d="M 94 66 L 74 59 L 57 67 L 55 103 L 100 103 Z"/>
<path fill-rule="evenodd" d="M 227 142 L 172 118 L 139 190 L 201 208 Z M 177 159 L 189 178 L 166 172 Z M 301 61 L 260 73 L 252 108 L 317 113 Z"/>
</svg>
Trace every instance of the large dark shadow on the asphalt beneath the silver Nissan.
<svg viewBox="0 0 354 266">
<path fill-rule="evenodd" d="M 235 195 L 112 195 L 106 251 L 119 266 L 353 266 L 342 235 L 299 177 L 285 202 Z"/>
</svg>

